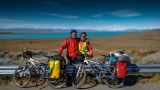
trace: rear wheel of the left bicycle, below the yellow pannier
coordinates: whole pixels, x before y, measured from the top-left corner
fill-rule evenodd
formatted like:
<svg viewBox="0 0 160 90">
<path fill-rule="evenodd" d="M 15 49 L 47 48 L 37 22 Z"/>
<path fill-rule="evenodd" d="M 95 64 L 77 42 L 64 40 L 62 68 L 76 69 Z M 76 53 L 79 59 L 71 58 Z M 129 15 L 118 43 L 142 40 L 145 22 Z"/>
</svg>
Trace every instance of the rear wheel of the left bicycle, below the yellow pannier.
<svg viewBox="0 0 160 90">
<path fill-rule="evenodd" d="M 49 73 L 47 73 L 47 76 L 48 76 L 47 83 L 52 88 L 56 88 L 56 89 L 62 88 L 66 84 L 67 75 L 64 71 L 61 72 L 61 75 L 59 78 L 50 78 Z"/>
</svg>

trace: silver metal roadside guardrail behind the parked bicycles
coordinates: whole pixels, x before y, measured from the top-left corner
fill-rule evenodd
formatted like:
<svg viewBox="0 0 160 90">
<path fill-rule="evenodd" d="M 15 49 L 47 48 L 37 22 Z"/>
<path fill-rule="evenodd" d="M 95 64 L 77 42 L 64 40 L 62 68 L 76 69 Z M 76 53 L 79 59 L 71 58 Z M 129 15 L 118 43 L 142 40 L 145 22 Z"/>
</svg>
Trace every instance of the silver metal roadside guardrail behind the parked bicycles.
<svg viewBox="0 0 160 90">
<path fill-rule="evenodd" d="M 13 75 L 17 68 L 18 66 L 0 66 L 0 75 Z M 160 64 L 130 64 L 127 74 L 136 73 L 160 73 Z"/>
</svg>

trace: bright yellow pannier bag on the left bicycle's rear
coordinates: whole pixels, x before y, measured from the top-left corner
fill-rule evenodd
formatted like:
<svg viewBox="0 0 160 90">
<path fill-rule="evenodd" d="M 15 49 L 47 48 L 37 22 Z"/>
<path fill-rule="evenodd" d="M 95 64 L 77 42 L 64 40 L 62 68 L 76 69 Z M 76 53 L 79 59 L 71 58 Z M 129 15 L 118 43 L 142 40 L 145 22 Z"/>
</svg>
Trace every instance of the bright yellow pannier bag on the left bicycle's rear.
<svg viewBox="0 0 160 90">
<path fill-rule="evenodd" d="M 51 78 L 58 79 L 60 77 L 61 63 L 60 60 L 50 60 L 49 61 L 49 72 L 51 73 Z"/>
</svg>

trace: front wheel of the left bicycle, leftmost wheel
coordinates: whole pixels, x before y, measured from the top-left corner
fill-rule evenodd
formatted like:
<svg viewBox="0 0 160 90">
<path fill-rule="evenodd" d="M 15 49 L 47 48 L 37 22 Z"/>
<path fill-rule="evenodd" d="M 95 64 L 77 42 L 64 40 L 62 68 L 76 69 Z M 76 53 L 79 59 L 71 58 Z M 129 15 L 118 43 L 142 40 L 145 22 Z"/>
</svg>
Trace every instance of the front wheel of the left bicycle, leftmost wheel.
<svg viewBox="0 0 160 90">
<path fill-rule="evenodd" d="M 13 79 L 18 87 L 26 87 L 31 80 L 29 68 L 25 66 L 18 67 L 14 72 Z"/>
</svg>

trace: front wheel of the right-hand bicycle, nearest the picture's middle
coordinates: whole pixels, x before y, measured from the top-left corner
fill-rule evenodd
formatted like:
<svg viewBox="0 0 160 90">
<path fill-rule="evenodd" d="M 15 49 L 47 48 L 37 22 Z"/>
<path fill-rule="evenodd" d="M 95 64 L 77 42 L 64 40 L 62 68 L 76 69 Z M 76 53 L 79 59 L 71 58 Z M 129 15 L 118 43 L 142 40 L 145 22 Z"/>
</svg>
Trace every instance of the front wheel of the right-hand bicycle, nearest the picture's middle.
<svg viewBox="0 0 160 90">
<path fill-rule="evenodd" d="M 73 76 L 73 87 L 80 88 L 84 84 L 86 79 L 86 71 L 83 67 L 79 67 L 77 73 Z"/>
</svg>

